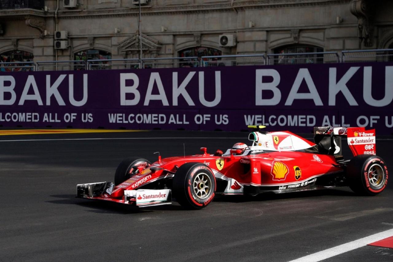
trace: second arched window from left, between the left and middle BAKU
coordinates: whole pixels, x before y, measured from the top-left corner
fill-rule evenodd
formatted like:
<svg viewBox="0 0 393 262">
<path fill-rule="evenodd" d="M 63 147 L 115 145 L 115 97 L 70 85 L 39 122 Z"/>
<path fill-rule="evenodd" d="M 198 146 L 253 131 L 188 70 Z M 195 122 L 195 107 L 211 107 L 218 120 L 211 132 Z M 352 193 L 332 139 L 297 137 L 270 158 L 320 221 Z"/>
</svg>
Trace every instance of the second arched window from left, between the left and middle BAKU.
<svg viewBox="0 0 393 262">
<path fill-rule="evenodd" d="M 83 61 L 83 63 L 77 63 L 74 65 L 77 67 L 80 65 L 80 70 L 83 70 L 85 68 L 84 64 L 86 63 L 87 60 L 103 60 L 103 59 L 112 59 L 112 54 L 107 51 L 103 50 L 98 50 L 98 49 L 88 49 L 88 50 L 82 50 L 74 55 L 74 60 L 76 61 Z M 103 61 L 103 62 L 94 62 L 91 63 L 91 68 L 90 69 L 110 69 L 108 61 Z M 78 69 L 78 68 L 75 68 Z"/>
</svg>

